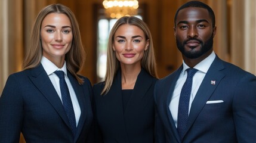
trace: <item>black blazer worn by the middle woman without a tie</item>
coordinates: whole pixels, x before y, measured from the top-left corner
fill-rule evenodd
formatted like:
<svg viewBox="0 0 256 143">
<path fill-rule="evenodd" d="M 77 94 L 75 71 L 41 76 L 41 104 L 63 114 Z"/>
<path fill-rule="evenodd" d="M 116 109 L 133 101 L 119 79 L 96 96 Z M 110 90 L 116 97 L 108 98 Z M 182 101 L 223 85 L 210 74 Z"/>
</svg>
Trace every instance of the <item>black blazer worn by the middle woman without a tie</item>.
<svg viewBox="0 0 256 143">
<path fill-rule="evenodd" d="M 93 86 L 97 142 L 150 143 L 154 141 L 153 89 L 156 80 L 141 69 L 125 113 L 122 105 L 120 70 L 106 95 L 100 95 L 104 82 Z"/>
</svg>

